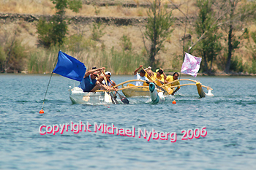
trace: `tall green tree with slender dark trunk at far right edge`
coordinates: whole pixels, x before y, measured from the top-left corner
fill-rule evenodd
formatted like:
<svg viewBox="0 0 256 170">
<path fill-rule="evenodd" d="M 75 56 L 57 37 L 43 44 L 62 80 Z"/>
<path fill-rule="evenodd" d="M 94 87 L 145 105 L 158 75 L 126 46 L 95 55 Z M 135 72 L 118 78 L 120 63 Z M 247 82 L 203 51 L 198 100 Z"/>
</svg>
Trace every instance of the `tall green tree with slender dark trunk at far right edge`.
<svg viewBox="0 0 256 170">
<path fill-rule="evenodd" d="M 255 1 L 218 0 L 215 1 L 215 7 L 219 12 L 225 14 L 222 16 L 219 26 L 226 32 L 227 61 L 225 72 L 228 73 L 234 51 L 242 46 L 241 37 L 235 35 L 234 31 L 240 31 L 243 26 L 246 26 L 246 22 L 255 18 Z"/>
</svg>

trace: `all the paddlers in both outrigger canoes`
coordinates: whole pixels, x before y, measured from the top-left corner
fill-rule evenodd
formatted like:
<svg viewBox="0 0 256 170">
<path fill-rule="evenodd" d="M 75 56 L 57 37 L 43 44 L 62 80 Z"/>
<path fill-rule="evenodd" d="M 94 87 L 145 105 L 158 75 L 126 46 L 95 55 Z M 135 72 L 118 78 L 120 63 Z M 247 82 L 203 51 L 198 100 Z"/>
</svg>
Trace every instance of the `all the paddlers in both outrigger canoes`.
<svg viewBox="0 0 256 170">
<path fill-rule="evenodd" d="M 93 67 L 91 70 L 84 74 L 83 80 L 80 82 L 79 88 L 82 88 L 84 92 L 95 92 L 96 90 L 116 90 L 114 86 L 116 82 L 110 80 L 111 72 L 105 72 L 105 67 L 97 69 L 97 67 Z M 140 72 L 138 73 L 138 71 Z M 156 85 L 164 85 L 169 82 L 173 82 L 178 80 L 178 73 L 175 72 L 173 76 L 166 76 L 163 69 L 157 69 L 156 72 L 151 70 L 151 67 L 143 69 L 143 65 L 140 65 L 138 69 L 135 69 L 134 72 L 135 80 L 145 80 L 148 82 L 154 82 Z M 135 85 L 143 85 L 144 82 L 135 82 Z M 145 84 L 144 84 L 145 85 Z M 168 86 L 179 85 L 179 82 L 169 83 Z M 172 95 L 176 93 L 180 87 L 173 89 Z"/>
</svg>

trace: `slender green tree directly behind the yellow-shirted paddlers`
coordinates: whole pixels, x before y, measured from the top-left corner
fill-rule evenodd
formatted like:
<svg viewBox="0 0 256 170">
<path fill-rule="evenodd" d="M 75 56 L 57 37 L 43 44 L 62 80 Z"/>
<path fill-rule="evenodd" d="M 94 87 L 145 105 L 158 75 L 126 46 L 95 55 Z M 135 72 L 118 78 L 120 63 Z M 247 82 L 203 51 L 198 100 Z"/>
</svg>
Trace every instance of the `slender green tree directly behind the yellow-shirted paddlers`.
<svg viewBox="0 0 256 170">
<path fill-rule="evenodd" d="M 161 0 L 150 2 L 151 7 L 148 9 L 148 23 L 144 33 L 146 39 L 151 43 L 149 49 L 146 47 L 146 42 L 143 36 L 144 46 L 149 55 L 149 63 L 152 69 L 156 69 L 158 62 L 156 55 L 164 46 L 165 39 L 173 32 L 171 26 L 174 19 L 171 12 L 167 12 L 166 7 L 162 7 Z"/>
</svg>

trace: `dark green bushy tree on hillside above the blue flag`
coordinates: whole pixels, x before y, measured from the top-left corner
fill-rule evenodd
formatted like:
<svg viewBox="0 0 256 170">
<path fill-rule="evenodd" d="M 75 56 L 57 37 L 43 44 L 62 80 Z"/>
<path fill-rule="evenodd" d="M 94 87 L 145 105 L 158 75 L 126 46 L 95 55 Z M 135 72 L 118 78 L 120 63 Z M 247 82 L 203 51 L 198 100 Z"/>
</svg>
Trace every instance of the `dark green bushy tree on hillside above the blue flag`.
<svg viewBox="0 0 256 170">
<path fill-rule="evenodd" d="M 59 45 L 60 47 L 68 31 L 68 20 L 65 16 L 65 10 L 69 8 L 74 12 L 78 12 L 82 7 L 82 2 L 80 0 L 50 1 L 55 4 L 56 15 L 53 15 L 53 18 L 50 18 L 49 21 L 46 18 L 40 18 L 37 24 L 39 43 L 45 47 L 50 47 L 50 45 Z"/>
</svg>

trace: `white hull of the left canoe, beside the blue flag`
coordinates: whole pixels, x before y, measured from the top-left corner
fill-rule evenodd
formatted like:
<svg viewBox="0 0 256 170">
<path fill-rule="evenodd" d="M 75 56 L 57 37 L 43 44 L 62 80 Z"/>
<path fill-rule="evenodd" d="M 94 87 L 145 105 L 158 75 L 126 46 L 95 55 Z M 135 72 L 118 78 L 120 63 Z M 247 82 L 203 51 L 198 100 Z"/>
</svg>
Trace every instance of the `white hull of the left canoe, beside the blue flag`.
<svg viewBox="0 0 256 170">
<path fill-rule="evenodd" d="M 112 103 L 106 92 L 83 92 L 83 89 L 69 86 L 69 98 L 73 104 L 106 104 Z"/>
</svg>

